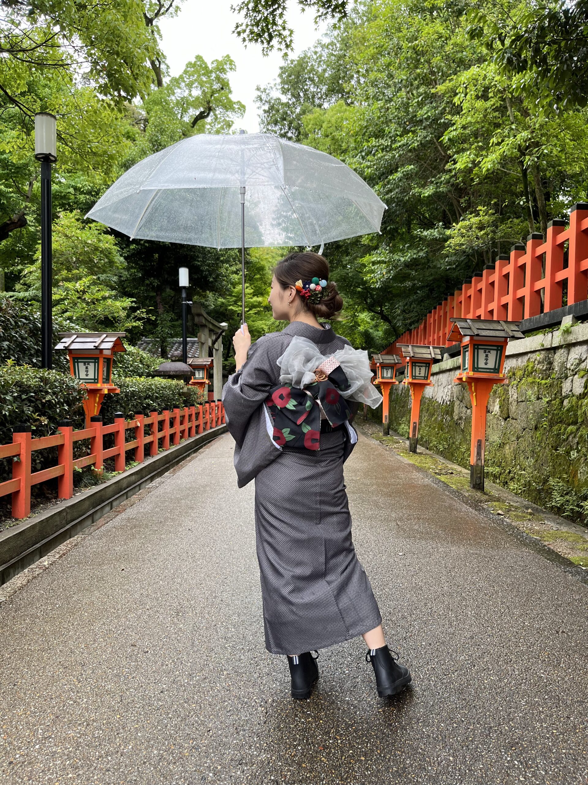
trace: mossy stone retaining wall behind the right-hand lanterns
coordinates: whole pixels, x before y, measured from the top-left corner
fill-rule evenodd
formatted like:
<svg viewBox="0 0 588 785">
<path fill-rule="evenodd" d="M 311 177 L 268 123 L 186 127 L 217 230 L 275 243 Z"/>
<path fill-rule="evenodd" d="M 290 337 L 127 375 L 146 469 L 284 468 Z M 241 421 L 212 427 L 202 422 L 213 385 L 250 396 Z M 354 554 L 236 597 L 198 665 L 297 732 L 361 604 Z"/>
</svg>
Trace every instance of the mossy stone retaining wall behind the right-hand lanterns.
<svg viewBox="0 0 588 785">
<path fill-rule="evenodd" d="M 471 403 L 453 379 L 459 357 L 437 363 L 421 404 L 419 444 L 468 468 Z M 588 323 L 510 341 L 506 385 L 488 401 L 489 480 L 588 523 Z M 390 391 L 390 427 L 408 436 L 409 392 Z"/>
</svg>

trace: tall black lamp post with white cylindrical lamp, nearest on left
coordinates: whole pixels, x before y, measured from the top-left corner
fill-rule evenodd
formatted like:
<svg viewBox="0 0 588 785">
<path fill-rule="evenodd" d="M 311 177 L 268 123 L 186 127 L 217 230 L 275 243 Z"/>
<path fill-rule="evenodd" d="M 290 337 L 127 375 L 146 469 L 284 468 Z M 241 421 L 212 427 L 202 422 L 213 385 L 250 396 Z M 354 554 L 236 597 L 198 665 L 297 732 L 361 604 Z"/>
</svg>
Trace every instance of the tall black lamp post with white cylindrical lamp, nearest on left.
<svg viewBox="0 0 588 785">
<path fill-rule="evenodd" d="M 41 162 L 41 365 L 53 363 L 53 257 L 51 253 L 51 164 L 57 160 L 57 120 L 34 115 L 34 157 Z"/>
</svg>

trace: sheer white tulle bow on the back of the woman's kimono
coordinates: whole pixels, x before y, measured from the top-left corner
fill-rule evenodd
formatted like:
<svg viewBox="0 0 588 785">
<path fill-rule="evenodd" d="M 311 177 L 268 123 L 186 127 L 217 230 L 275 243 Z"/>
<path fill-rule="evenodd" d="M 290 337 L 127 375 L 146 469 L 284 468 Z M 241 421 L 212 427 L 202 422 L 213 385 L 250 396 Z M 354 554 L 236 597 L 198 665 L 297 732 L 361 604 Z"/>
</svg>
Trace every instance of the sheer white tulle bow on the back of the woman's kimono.
<svg viewBox="0 0 588 785">
<path fill-rule="evenodd" d="M 347 389 L 339 388 L 344 398 L 367 403 L 372 409 L 382 403 L 382 396 L 372 385 L 373 374 L 365 349 L 353 349 L 346 345 L 331 355 L 323 355 L 313 341 L 296 335 L 284 354 L 278 357 L 278 365 L 281 370 L 280 382 L 299 388 L 320 378 L 315 373 L 317 369 L 320 368 L 328 377 L 336 367 L 340 367 L 349 382 Z"/>
</svg>

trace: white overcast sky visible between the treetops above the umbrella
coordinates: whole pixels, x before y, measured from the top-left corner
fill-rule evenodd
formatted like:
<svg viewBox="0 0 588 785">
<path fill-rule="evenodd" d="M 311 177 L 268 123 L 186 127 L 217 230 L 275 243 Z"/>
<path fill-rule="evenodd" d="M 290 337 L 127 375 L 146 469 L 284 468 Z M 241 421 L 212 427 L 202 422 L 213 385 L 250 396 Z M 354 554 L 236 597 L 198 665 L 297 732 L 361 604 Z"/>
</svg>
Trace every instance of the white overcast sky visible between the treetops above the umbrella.
<svg viewBox="0 0 588 785">
<path fill-rule="evenodd" d="M 234 100 L 245 104 L 245 116 L 237 125 L 249 133 L 259 130 L 257 108 L 253 102 L 257 85 L 266 85 L 278 76 L 283 63 L 281 54 L 271 53 L 263 57 L 261 47 L 241 44 L 231 31 L 237 17 L 230 10 L 231 2 L 237 0 L 185 0 L 180 13 L 174 19 L 163 19 L 162 49 L 167 57 L 172 76 L 179 75 L 189 60 L 196 55 L 207 63 L 226 54 L 233 58 L 237 70 L 230 75 Z M 314 11 L 302 13 L 299 5 L 289 5 L 289 23 L 294 30 L 294 56 L 311 46 L 326 24 L 314 27 Z"/>
</svg>

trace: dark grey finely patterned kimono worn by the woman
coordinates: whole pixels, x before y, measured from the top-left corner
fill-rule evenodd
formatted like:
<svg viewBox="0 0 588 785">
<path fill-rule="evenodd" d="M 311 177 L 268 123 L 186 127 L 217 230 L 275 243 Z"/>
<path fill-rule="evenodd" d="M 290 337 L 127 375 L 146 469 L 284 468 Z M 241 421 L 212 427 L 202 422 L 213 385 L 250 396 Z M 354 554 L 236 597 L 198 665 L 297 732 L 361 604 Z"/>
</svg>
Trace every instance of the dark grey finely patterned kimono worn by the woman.
<svg viewBox="0 0 588 785">
<path fill-rule="evenodd" d="M 331 327 L 292 322 L 256 341 L 223 389 L 239 487 L 255 477 L 266 648 L 292 655 L 348 641 L 382 621 L 351 539 L 343 462 L 358 439 L 355 429 L 346 421 L 321 433 L 319 450 L 283 449 L 272 439 L 265 401 L 279 381 L 276 360 L 295 335 L 325 355 L 347 344 Z"/>
</svg>

